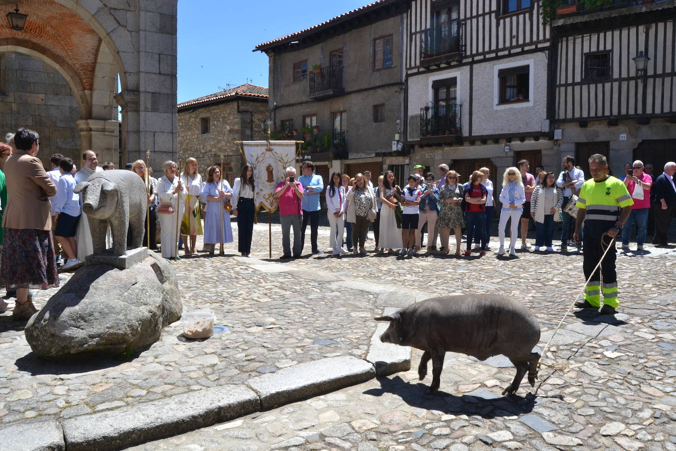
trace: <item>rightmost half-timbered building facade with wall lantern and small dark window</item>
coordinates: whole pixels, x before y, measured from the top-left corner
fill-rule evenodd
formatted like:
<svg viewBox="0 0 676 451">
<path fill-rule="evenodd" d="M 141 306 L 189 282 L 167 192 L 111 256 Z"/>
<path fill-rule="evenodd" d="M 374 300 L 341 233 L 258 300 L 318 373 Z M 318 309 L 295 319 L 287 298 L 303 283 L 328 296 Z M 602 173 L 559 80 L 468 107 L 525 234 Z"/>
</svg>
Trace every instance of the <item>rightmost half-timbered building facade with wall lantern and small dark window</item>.
<svg viewBox="0 0 676 451">
<path fill-rule="evenodd" d="M 654 176 L 676 151 L 676 1 L 575 3 L 552 22 L 556 144 L 580 164 L 608 156 L 614 174 L 642 160 Z"/>
</svg>

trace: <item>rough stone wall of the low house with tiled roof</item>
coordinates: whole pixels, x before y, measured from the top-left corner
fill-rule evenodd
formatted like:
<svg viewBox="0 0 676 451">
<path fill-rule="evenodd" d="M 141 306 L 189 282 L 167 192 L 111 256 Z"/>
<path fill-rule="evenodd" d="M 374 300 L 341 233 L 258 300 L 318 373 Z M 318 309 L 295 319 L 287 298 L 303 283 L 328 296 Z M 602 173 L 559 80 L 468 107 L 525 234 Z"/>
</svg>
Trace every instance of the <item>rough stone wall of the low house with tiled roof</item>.
<svg viewBox="0 0 676 451">
<path fill-rule="evenodd" d="M 267 139 L 260 122 L 268 117 L 268 99 L 258 101 L 232 99 L 203 107 L 185 108 L 178 112 L 178 151 L 197 159 L 199 173 L 206 180 L 212 164 L 230 164 L 228 181 L 239 176 L 244 159 L 235 141 Z M 201 133 L 201 118 L 210 118 L 210 133 Z M 153 168 L 158 170 L 158 168 Z"/>
</svg>

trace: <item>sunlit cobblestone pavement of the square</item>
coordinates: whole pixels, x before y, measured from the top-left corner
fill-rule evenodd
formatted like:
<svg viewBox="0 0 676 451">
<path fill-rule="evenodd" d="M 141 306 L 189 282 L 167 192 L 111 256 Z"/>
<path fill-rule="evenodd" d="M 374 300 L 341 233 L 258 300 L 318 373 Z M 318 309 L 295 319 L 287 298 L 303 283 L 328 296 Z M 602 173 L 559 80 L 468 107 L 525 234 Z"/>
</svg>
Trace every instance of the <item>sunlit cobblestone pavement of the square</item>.
<svg viewBox="0 0 676 451">
<path fill-rule="evenodd" d="M 236 234 L 235 234 L 236 235 Z M 276 240 L 279 225 L 272 226 Z M 372 235 L 371 235 L 372 236 Z M 49 364 L 30 354 L 22 327 L 0 315 L 0 422 L 72 417 L 155 400 L 327 356 L 362 357 L 385 307 L 448 293 L 504 293 L 525 302 L 544 331 L 541 346 L 583 284 L 579 254 L 516 258 L 394 255 L 268 259 L 268 226 L 253 258 L 183 258 L 176 270 L 185 310 L 208 308 L 230 328 L 184 341 L 180 323 L 130 361 Z M 320 229 L 320 248 L 329 231 Z M 309 237 L 308 237 L 309 241 Z M 368 249 L 373 248 L 368 241 Z M 491 243 L 495 249 L 496 243 Z M 309 252 L 309 243 L 306 252 Z M 614 318 L 569 315 L 525 398 L 500 395 L 514 375 L 500 357 L 447 355 L 442 394 L 425 395 L 416 371 L 373 380 L 241 420 L 135 449 L 580 449 L 676 450 L 676 252 L 646 246 L 619 253 L 622 302 Z M 66 279 L 68 276 L 64 276 Z M 53 293 L 53 291 L 52 291 Z M 37 292 L 40 306 L 48 291 Z M 414 352 L 412 368 L 417 368 Z"/>
</svg>

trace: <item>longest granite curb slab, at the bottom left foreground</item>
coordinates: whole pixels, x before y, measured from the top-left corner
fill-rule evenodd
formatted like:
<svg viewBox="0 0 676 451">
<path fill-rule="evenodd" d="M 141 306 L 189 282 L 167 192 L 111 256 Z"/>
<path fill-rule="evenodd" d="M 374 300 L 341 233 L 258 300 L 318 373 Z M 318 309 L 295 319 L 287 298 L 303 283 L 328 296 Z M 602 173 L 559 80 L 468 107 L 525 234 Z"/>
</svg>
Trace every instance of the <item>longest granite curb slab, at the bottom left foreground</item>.
<svg viewBox="0 0 676 451">
<path fill-rule="evenodd" d="M 68 451 L 118 450 L 257 412 L 258 395 L 224 385 L 118 408 L 62 423 Z M 36 448 L 31 448 L 36 449 Z"/>
</svg>

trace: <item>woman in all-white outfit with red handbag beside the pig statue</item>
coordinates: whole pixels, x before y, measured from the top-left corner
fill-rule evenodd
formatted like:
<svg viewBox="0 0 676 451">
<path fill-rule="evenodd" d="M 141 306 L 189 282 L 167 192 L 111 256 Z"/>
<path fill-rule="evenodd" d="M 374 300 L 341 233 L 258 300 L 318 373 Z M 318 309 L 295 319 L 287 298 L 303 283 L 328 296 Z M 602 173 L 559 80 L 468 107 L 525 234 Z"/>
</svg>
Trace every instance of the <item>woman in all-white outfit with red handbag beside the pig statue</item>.
<svg viewBox="0 0 676 451">
<path fill-rule="evenodd" d="M 176 163 L 166 161 L 162 165 L 164 176 L 158 180 L 158 195 L 160 195 L 160 238 L 162 241 L 162 257 L 174 258 L 176 245 L 178 244 L 178 231 L 176 231 L 176 215 L 183 217 L 183 207 L 187 191 L 176 176 Z M 164 205 L 163 205 L 164 204 Z M 167 213 L 168 206 L 171 206 L 171 213 Z M 180 225 L 180 224 L 179 224 Z M 176 256 L 178 257 L 178 256 Z"/>
</svg>

